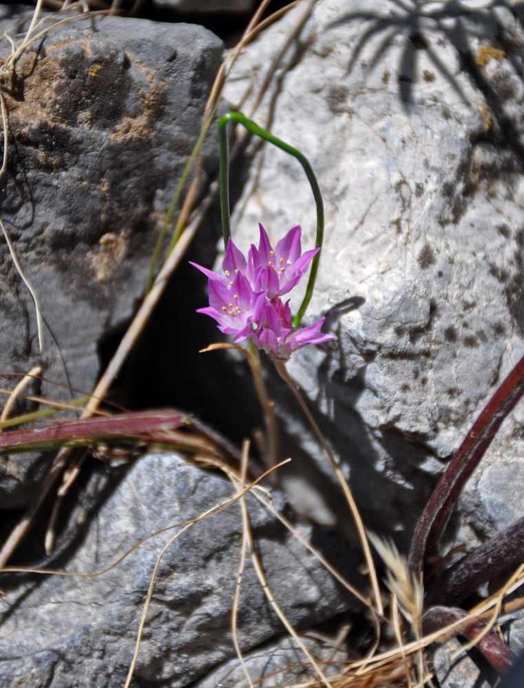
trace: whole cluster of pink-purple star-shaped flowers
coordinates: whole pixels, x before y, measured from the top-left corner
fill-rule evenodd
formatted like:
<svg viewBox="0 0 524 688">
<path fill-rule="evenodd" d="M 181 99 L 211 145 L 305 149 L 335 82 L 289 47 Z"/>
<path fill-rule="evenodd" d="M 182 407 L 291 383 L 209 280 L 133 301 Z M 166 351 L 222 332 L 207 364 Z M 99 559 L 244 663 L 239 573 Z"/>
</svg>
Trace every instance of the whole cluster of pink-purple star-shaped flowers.
<svg viewBox="0 0 524 688">
<path fill-rule="evenodd" d="M 293 327 L 287 294 L 304 277 L 313 257 L 313 248 L 302 254 L 300 226 L 293 227 L 273 248 L 266 230 L 260 227 L 258 248 L 251 244 L 246 258 L 231 238 L 222 261 L 222 274 L 196 263 L 191 265 L 209 278 L 209 307 L 199 308 L 214 318 L 224 334 L 234 334 L 235 342 L 250 338 L 276 361 L 287 361 L 291 353 L 307 344 L 324 345 L 333 334 L 320 330 L 324 318 L 308 327 Z"/>
</svg>

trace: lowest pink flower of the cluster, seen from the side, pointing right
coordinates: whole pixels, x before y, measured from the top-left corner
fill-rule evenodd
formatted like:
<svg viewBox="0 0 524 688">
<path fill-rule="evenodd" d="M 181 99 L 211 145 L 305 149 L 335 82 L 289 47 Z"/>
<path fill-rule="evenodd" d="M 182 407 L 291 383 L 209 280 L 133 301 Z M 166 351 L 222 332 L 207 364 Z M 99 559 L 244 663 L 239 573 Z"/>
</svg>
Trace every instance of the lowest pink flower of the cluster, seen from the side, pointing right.
<svg viewBox="0 0 524 688">
<path fill-rule="evenodd" d="M 275 361 L 287 361 L 294 351 L 303 346 L 317 344 L 323 347 L 326 341 L 335 339 L 333 334 L 320 332 L 323 324 L 324 318 L 321 318 L 313 325 L 295 329 L 289 301 L 284 305 L 279 297 L 273 297 L 262 305 L 260 324 L 250 336 L 258 348 Z"/>
</svg>

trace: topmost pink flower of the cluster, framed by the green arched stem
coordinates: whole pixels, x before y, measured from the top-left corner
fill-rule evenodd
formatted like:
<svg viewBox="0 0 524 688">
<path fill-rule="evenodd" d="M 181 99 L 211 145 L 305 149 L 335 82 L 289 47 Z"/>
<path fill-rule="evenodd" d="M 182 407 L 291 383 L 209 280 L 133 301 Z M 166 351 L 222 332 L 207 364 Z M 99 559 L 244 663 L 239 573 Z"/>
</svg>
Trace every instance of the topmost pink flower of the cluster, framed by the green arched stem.
<svg viewBox="0 0 524 688">
<path fill-rule="evenodd" d="M 253 280 L 253 288 L 267 289 L 268 297 L 287 294 L 304 277 L 309 264 L 319 252 L 312 248 L 301 255 L 300 225 L 293 227 L 273 248 L 266 230 L 259 223 L 260 243 L 258 249 L 251 244 L 248 255 L 247 277 Z"/>
</svg>

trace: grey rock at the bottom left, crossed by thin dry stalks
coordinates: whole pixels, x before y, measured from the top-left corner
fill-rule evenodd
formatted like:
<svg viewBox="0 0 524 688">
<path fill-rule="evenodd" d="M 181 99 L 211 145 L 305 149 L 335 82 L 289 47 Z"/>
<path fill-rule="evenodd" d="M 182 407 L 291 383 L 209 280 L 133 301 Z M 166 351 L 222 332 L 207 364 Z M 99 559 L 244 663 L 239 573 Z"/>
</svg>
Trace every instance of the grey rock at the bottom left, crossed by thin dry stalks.
<svg viewBox="0 0 524 688">
<path fill-rule="evenodd" d="M 140 538 L 198 517 L 235 490 L 222 477 L 176 455 L 148 454 L 129 468 L 116 488 L 107 484 L 105 492 L 103 503 L 87 519 L 85 537 L 67 561 L 67 571 L 101 570 Z M 352 604 L 349 594 L 313 555 L 254 497 L 249 495 L 247 501 L 267 580 L 291 623 L 303 627 L 347 609 Z M 287 510 L 282 493 L 273 493 L 273 505 Z M 350 553 L 339 551 L 335 561 L 333 542 L 321 531 L 298 528 L 306 539 L 315 539 L 342 573 L 349 571 L 353 577 Z M 100 577 L 36 577 L 10 587 L 4 576 L 0 687 L 122 686 L 154 563 L 181 530 L 145 541 Z M 193 524 L 169 546 L 158 570 L 134 685 L 188 685 L 234 656 L 230 619 L 241 541 L 237 503 Z M 248 563 L 238 617 L 240 647 L 247 651 L 281 633 L 282 625 Z"/>
</svg>

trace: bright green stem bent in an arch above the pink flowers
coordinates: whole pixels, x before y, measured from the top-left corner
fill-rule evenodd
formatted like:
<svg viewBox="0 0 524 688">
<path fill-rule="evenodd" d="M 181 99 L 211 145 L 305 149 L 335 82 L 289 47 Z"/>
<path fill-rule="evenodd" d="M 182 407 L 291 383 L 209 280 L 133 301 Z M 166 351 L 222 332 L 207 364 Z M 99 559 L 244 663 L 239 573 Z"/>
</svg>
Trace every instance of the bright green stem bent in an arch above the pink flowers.
<svg viewBox="0 0 524 688">
<path fill-rule="evenodd" d="M 315 246 L 317 248 L 322 247 L 322 241 L 324 240 L 324 202 L 322 201 L 322 193 L 320 193 L 320 187 L 309 164 L 308 159 L 299 150 L 293 148 L 286 142 L 282 141 L 280 138 L 273 136 L 272 133 L 262 129 L 255 124 L 252 120 L 247 118 L 241 112 L 227 112 L 222 115 L 220 120 L 218 120 L 218 140 L 220 142 L 220 215 L 222 216 L 222 234 L 224 236 L 224 247 L 227 248 L 227 240 L 231 237 L 231 226 L 229 222 L 229 152 L 228 152 L 228 142 L 226 127 L 228 122 L 240 122 L 244 125 L 248 131 L 260 136 L 264 141 L 269 141 L 277 148 L 282 149 L 286 153 L 293 155 L 298 162 L 304 168 L 304 172 L 311 184 L 311 190 L 313 191 L 313 196 L 315 197 L 315 203 L 317 204 L 317 239 L 315 241 Z M 313 261 L 311 261 L 311 272 L 309 273 L 308 286 L 306 288 L 306 295 L 302 301 L 300 308 L 298 309 L 295 318 L 293 319 L 293 327 L 298 327 L 300 321 L 306 312 L 306 308 L 311 301 L 313 296 L 313 288 L 315 286 L 315 280 L 317 279 L 318 264 L 320 259 L 320 252 L 315 255 Z"/>
</svg>

